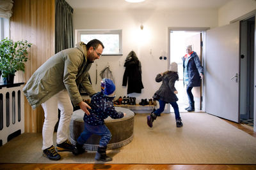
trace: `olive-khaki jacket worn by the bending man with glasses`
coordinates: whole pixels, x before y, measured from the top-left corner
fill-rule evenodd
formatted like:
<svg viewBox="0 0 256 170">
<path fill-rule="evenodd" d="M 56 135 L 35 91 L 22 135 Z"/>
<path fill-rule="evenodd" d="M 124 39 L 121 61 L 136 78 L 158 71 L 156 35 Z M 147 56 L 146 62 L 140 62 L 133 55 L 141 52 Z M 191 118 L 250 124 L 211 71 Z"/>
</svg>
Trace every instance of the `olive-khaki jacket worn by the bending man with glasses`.
<svg viewBox="0 0 256 170">
<path fill-rule="evenodd" d="M 23 92 L 32 108 L 64 89 L 67 89 L 73 104 L 83 101 L 77 88 L 80 83 L 90 96 L 95 94 L 88 79 L 92 62 L 87 61 L 86 45 L 79 42 L 76 46 L 53 55 L 29 78 Z"/>
</svg>

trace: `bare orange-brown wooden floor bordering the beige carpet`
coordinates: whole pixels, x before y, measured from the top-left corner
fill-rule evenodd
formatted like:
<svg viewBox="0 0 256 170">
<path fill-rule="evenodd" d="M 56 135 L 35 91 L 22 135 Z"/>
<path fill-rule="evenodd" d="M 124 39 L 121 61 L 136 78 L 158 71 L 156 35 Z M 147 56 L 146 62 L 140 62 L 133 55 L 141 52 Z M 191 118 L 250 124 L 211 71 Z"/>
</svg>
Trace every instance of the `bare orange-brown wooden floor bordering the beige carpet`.
<svg viewBox="0 0 256 170">
<path fill-rule="evenodd" d="M 241 131 L 256 138 L 256 132 L 248 125 L 227 121 Z M 256 165 L 241 164 L 0 164 L 0 169 L 256 169 Z"/>
</svg>

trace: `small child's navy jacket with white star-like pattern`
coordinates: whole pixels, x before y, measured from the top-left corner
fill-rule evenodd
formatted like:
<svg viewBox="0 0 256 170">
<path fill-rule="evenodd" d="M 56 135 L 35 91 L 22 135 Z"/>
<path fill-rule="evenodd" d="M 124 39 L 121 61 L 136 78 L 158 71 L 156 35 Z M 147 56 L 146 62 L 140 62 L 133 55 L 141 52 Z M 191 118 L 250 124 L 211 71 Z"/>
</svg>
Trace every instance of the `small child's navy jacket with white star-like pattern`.
<svg viewBox="0 0 256 170">
<path fill-rule="evenodd" d="M 97 92 L 92 97 L 89 109 L 90 115 L 84 114 L 84 122 L 90 125 L 103 125 L 104 119 L 111 118 L 122 118 L 124 113 L 116 111 L 113 105 L 114 97 L 108 97 L 103 92 Z"/>
</svg>

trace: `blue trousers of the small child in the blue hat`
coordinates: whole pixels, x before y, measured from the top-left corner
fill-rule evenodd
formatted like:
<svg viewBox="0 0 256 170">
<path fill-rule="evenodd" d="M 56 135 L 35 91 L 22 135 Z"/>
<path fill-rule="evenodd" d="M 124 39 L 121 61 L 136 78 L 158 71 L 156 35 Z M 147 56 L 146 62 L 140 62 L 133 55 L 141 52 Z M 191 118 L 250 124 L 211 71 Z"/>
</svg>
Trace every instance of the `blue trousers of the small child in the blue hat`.
<svg viewBox="0 0 256 170">
<path fill-rule="evenodd" d="M 79 138 L 77 138 L 77 143 L 79 145 L 84 145 L 88 138 L 92 134 L 97 134 L 101 136 L 100 146 L 107 146 L 111 139 L 111 132 L 108 130 L 106 125 L 89 125 L 84 122 L 84 131 L 80 134 Z"/>
</svg>

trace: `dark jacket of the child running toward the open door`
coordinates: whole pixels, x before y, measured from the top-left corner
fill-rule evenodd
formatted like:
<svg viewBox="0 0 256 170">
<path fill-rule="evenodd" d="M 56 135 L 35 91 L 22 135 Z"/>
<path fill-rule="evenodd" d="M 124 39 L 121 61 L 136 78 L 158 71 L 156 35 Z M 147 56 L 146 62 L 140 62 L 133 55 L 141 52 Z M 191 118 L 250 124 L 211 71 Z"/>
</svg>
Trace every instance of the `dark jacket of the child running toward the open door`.
<svg viewBox="0 0 256 170">
<path fill-rule="evenodd" d="M 178 97 L 174 94 L 177 91 L 174 87 L 175 81 L 179 80 L 177 72 L 168 71 L 166 74 L 157 74 L 156 81 L 159 83 L 162 81 L 161 87 L 156 91 L 153 96 L 155 100 L 165 101 L 166 103 L 178 101 Z"/>
</svg>

